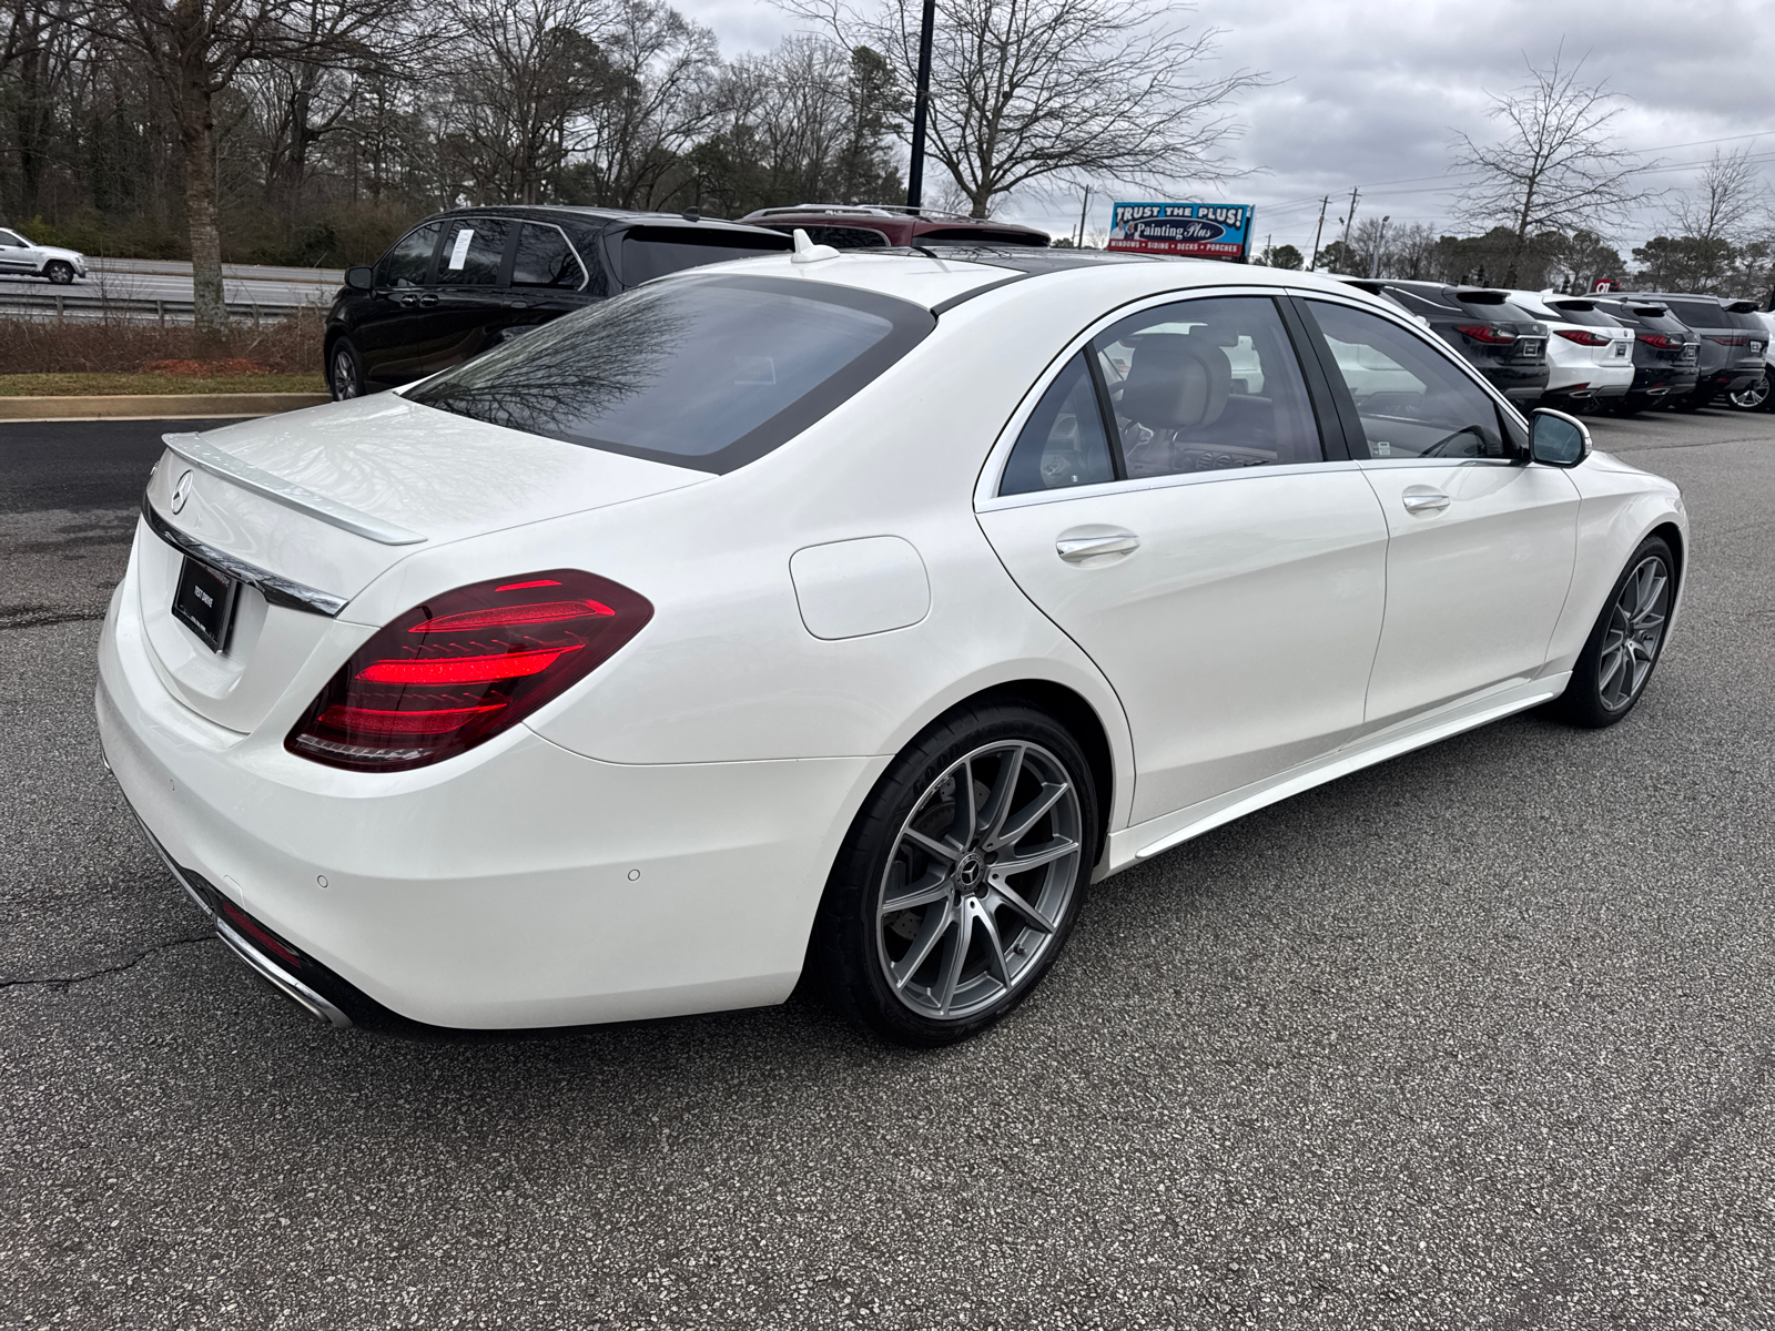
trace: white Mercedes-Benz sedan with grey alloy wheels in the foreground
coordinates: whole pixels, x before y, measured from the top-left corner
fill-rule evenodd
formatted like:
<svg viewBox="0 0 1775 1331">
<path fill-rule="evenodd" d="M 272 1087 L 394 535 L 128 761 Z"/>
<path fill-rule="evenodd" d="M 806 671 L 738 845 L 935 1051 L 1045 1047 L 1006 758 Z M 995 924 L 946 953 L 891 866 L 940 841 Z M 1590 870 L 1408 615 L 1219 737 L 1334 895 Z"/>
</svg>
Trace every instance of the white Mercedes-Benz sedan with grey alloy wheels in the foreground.
<svg viewBox="0 0 1775 1331">
<path fill-rule="evenodd" d="M 1674 484 L 1335 280 L 1054 250 L 699 268 L 399 394 L 169 435 L 105 758 L 346 1026 L 779 1003 L 957 1040 L 1086 884 L 1642 696 Z"/>
</svg>

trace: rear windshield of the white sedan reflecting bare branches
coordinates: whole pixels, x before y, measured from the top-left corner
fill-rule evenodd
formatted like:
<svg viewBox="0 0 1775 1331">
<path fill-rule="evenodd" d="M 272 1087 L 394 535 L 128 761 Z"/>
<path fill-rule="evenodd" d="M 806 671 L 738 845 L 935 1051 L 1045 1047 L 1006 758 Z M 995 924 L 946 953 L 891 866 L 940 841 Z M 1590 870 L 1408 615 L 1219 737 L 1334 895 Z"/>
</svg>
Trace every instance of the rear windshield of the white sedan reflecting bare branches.
<svg viewBox="0 0 1775 1331">
<path fill-rule="evenodd" d="M 730 472 L 903 357 L 918 305 L 772 277 L 690 277 L 612 296 L 493 348 L 408 401 L 634 458 Z"/>
</svg>

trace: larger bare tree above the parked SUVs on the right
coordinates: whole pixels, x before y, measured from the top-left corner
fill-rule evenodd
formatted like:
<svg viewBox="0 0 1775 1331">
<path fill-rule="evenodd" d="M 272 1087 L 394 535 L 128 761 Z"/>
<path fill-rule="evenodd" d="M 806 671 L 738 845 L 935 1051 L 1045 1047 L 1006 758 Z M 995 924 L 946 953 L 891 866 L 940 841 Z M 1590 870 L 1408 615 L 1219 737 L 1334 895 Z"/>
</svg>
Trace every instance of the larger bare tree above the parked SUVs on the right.
<svg viewBox="0 0 1775 1331">
<path fill-rule="evenodd" d="M 1503 286 L 1516 284 L 1535 232 L 1601 231 L 1651 197 L 1637 181 L 1654 163 L 1640 165 L 1610 130 L 1621 98 L 1606 83 L 1580 83 L 1583 60 L 1566 66 L 1562 57 L 1555 51 L 1546 69 L 1530 66 L 1526 85 L 1491 99 L 1487 115 L 1505 130 L 1498 142 L 1475 144 L 1464 133 L 1454 140 L 1454 167 L 1475 174 L 1459 215 L 1516 238 Z"/>
</svg>

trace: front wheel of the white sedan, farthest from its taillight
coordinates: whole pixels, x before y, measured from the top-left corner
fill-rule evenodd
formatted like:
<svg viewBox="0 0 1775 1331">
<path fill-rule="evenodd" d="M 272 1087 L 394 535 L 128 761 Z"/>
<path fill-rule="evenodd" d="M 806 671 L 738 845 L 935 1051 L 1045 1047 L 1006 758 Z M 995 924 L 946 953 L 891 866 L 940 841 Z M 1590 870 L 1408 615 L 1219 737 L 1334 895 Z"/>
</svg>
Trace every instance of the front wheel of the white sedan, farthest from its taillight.
<svg viewBox="0 0 1775 1331">
<path fill-rule="evenodd" d="M 1663 650 L 1676 593 L 1676 561 L 1660 536 L 1651 536 L 1628 559 L 1596 628 L 1590 630 L 1571 683 L 1553 705 L 1574 726 L 1613 726 L 1645 692 Z"/>
</svg>

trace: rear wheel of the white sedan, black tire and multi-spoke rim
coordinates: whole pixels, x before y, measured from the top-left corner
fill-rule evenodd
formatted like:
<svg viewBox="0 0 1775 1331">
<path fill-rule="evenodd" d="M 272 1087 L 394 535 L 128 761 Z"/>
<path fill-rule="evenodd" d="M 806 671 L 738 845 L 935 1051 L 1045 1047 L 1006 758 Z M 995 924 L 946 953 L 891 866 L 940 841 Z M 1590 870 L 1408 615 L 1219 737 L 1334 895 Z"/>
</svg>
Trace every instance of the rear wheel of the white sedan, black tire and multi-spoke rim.
<svg viewBox="0 0 1775 1331">
<path fill-rule="evenodd" d="M 1017 768 L 1010 774 L 1014 790 L 996 799 L 1010 770 L 1008 752 L 1017 752 Z M 923 822 L 921 843 L 941 838 L 950 845 L 950 834 L 969 822 L 958 799 L 962 786 L 951 777 L 962 760 L 971 760 L 962 770 L 971 774 L 976 797 L 969 806 L 976 811 L 973 831 L 953 841 L 953 850 L 962 854 L 939 859 L 905 838 L 916 834 L 914 822 Z M 1058 797 L 1053 811 L 1038 815 L 1026 834 L 992 847 L 990 834 L 982 834 L 985 825 L 996 816 L 998 827 L 1010 834 L 1017 815 L 1038 807 L 1058 784 L 1049 777 L 1061 772 L 1074 802 Z M 966 1040 L 1001 1020 L 1042 981 L 1072 933 L 1097 862 L 1099 827 L 1090 763 L 1077 740 L 1053 717 L 1017 701 L 964 706 L 941 717 L 875 783 L 827 880 L 809 958 L 834 1006 L 886 1040 L 925 1049 Z M 1017 855 L 1033 857 L 1061 847 L 1072 834 L 1077 839 L 1070 857 L 1003 873 L 1003 864 Z M 1031 848 L 1031 836 L 1049 839 Z M 907 855 L 923 862 L 911 887 L 914 868 Z M 964 886 L 969 861 L 978 862 L 971 886 Z M 1031 886 L 1033 875 L 1042 875 L 1040 884 Z M 905 910 L 882 910 L 889 889 L 916 894 L 927 880 L 935 882 L 934 896 Z M 1001 886 L 1030 900 L 1017 896 L 1019 907 L 1010 907 L 996 896 Z M 1051 903 L 1045 910 L 1044 902 Z M 1030 905 L 1037 910 L 1021 914 Z M 1037 916 L 1040 928 L 1031 923 Z M 898 957 L 893 955 L 896 948 Z M 957 951 L 960 958 L 944 990 L 943 980 L 951 974 L 950 958 Z M 914 953 L 927 960 L 912 960 Z M 891 978 L 896 967 L 905 969 L 900 987 Z M 950 999 L 971 997 L 957 1001 L 953 1015 L 932 1015 L 939 992 L 944 1008 Z"/>
</svg>

